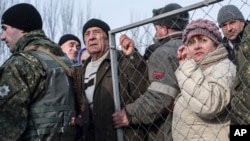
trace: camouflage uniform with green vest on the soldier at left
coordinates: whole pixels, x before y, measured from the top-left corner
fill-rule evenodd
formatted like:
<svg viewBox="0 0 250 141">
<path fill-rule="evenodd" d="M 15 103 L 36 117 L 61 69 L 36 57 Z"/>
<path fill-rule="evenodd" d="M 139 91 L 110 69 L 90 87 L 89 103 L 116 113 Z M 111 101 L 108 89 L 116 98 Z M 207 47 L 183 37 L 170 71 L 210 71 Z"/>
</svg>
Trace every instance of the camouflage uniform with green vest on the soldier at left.
<svg viewBox="0 0 250 141">
<path fill-rule="evenodd" d="M 58 92 L 58 88 L 52 89 L 58 82 L 51 82 L 52 86 L 48 86 L 49 76 L 44 62 L 28 53 L 32 51 L 24 51 L 33 45 L 45 48 L 56 56 L 64 56 L 42 30 L 28 32 L 18 40 L 13 55 L 0 69 L 0 140 L 74 140 L 75 133 L 68 134 L 66 130 L 70 127 L 71 116 L 76 115 L 73 93 L 65 95 Z M 68 86 L 62 88 L 61 91 L 64 91 Z M 56 96 L 53 95 L 55 93 Z M 68 136 L 62 138 L 65 134 Z"/>
</svg>

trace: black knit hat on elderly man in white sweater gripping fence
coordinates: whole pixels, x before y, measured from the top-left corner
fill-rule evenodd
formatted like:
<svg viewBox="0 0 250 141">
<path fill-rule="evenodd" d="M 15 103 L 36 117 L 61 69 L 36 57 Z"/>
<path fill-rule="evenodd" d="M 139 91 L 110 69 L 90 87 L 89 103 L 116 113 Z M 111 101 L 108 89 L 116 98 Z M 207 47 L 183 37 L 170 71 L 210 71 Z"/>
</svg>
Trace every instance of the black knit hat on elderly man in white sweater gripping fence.
<svg viewBox="0 0 250 141">
<path fill-rule="evenodd" d="M 82 35 L 84 38 L 84 33 L 86 32 L 86 30 L 90 27 L 99 27 L 101 28 L 107 35 L 108 35 L 108 31 L 110 30 L 110 27 L 107 23 L 105 23 L 102 20 L 99 19 L 90 19 L 89 21 L 87 21 L 85 23 L 85 25 L 82 28 Z"/>
</svg>

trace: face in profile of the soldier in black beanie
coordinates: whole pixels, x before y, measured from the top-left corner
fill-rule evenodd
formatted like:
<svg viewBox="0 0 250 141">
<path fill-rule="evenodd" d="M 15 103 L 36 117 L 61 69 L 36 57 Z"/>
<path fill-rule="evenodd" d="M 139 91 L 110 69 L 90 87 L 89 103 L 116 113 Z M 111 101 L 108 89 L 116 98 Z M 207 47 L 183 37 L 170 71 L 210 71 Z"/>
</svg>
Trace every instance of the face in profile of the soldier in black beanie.
<svg viewBox="0 0 250 141">
<path fill-rule="evenodd" d="M 25 34 L 23 30 L 2 24 L 1 40 L 6 43 L 11 53 L 15 51 L 17 41 Z"/>
</svg>

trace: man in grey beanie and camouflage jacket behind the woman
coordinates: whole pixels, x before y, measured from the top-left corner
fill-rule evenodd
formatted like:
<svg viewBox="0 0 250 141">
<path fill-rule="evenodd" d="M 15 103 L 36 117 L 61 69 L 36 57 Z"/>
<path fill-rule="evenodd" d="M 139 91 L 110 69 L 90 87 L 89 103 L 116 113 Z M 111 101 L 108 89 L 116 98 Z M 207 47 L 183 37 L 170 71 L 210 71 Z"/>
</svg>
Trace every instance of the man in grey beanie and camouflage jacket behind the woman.
<svg viewBox="0 0 250 141">
<path fill-rule="evenodd" d="M 250 27 L 241 11 L 234 5 L 226 5 L 217 17 L 224 34 L 223 44 L 229 59 L 236 64 L 232 107 L 232 124 L 250 124 Z"/>
</svg>

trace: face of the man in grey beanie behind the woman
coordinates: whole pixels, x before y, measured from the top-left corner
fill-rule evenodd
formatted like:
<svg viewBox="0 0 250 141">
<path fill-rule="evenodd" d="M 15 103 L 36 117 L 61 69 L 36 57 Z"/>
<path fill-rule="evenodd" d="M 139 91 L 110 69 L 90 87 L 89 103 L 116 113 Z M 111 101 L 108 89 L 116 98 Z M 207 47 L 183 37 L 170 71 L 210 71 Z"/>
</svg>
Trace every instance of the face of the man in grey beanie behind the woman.
<svg viewBox="0 0 250 141">
<path fill-rule="evenodd" d="M 224 36 L 228 40 L 235 40 L 239 33 L 243 31 L 245 22 L 240 20 L 232 20 L 220 25 Z"/>
</svg>

